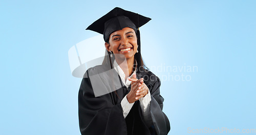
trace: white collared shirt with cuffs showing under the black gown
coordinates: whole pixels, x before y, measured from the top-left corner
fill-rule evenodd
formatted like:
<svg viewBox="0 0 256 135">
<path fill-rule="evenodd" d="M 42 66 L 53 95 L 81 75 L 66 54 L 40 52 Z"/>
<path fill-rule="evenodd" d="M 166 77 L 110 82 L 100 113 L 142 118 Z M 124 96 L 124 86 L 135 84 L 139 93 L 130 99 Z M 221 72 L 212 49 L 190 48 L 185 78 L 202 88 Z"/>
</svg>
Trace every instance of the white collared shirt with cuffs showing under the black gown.
<svg viewBox="0 0 256 135">
<path fill-rule="evenodd" d="M 137 63 L 137 61 L 136 61 L 136 63 Z M 118 63 L 116 62 L 116 60 L 114 61 L 113 65 L 114 65 L 114 69 L 116 70 L 116 72 L 120 76 L 123 84 L 125 84 L 125 86 L 128 88 L 129 85 L 132 83 L 132 81 L 129 81 L 127 79 L 125 81 L 125 74 L 124 74 L 123 70 L 120 68 L 120 66 L 118 65 Z M 132 78 L 134 74 L 136 74 L 136 70 L 128 78 Z M 126 118 L 126 116 L 129 114 L 129 112 L 130 112 L 130 110 L 131 110 L 131 108 L 133 107 L 133 104 L 134 104 L 134 103 L 129 103 L 126 96 L 127 95 L 125 95 L 125 97 L 121 101 L 121 106 L 122 106 L 122 109 L 123 109 L 123 117 L 124 118 Z M 151 94 L 150 94 L 150 91 L 148 90 L 148 93 L 144 97 L 140 98 L 139 101 L 140 101 L 140 107 L 143 111 L 144 121 L 147 123 L 147 120 L 151 119 L 151 114 L 150 114 Z"/>
</svg>

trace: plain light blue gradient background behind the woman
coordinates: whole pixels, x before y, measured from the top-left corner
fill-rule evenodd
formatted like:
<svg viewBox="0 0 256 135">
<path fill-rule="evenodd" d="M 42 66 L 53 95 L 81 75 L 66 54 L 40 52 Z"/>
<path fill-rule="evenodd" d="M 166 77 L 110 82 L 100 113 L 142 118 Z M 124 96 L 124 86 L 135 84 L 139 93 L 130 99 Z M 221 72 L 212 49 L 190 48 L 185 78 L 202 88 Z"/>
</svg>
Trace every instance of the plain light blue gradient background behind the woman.
<svg viewBox="0 0 256 135">
<path fill-rule="evenodd" d="M 147 66 L 198 67 L 154 72 L 191 76 L 162 81 L 169 134 L 256 128 L 256 1 L 1 1 L 0 134 L 80 134 L 68 50 L 114 7 L 152 18 L 140 29 Z"/>
</svg>

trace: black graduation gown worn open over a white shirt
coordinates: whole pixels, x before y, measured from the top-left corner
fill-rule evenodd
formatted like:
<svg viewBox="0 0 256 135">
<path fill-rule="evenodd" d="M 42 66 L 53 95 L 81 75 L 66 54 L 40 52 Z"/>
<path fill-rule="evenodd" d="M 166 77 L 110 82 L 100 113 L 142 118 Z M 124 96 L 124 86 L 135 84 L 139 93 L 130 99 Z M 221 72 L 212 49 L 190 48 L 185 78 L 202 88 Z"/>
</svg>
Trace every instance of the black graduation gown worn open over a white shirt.
<svg viewBox="0 0 256 135">
<path fill-rule="evenodd" d="M 126 88 L 119 76 L 111 78 L 113 73 L 117 73 L 113 69 L 112 73 L 105 72 L 109 70 L 110 68 L 106 65 L 98 65 L 84 74 L 78 94 L 78 115 L 81 134 L 167 134 L 170 130 L 170 125 L 168 118 L 162 111 L 164 99 L 160 95 L 160 79 L 148 70 L 137 74 L 137 78 L 144 78 L 144 83 L 151 93 L 150 111 L 153 124 L 147 127 L 143 120 L 139 100 L 134 103 L 129 114 L 124 119 L 121 100 L 130 92 L 131 85 Z M 95 97 L 96 93 L 93 91 L 90 74 L 97 75 L 98 81 L 96 83 L 106 87 L 108 89 L 106 91 L 109 91 L 108 94 Z M 113 92 L 113 88 L 116 91 Z"/>
</svg>

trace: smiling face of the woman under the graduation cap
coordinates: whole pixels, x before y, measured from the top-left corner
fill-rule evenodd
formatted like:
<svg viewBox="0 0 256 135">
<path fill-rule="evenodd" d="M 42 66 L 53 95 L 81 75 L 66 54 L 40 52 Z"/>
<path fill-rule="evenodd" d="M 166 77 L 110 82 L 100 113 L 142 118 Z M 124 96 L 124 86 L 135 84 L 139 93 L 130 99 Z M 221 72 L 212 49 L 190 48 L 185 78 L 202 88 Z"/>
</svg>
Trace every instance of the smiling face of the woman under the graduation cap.
<svg viewBox="0 0 256 135">
<path fill-rule="evenodd" d="M 123 28 L 113 32 L 110 35 L 109 43 L 105 43 L 105 47 L 108 51 L 113 51 L 116 58 L 134 58 L 137 52 L 137 36 L 132 28 Z"/>
</svg>

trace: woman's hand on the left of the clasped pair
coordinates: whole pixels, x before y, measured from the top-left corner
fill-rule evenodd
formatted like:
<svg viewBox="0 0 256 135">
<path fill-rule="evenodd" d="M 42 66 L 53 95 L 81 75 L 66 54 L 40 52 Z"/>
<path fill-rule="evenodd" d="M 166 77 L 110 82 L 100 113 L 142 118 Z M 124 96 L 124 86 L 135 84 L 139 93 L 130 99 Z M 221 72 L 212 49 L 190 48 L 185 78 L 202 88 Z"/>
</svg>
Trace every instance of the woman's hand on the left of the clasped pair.
<svg viewBox="0 0 256 135">
<path fill-rule="evenodd" d="M 133 81 L 131 83 L 131 91 L 127 94 L 126 98 L 127 98 L 129 103 L 134 103 L 135 101 L 139 100 L 139 98 L 136 95 L 136 93 L 138 93 L 137 91 L 139 90 L 139 87 L 143 83 L 143 78 L 137 79 L 136 78 L 136 74 L 134 74 L 132 79 L 130 79 L 130 78 L 127 78 L 127 79 L 133 80 Z"/>
</svg>

